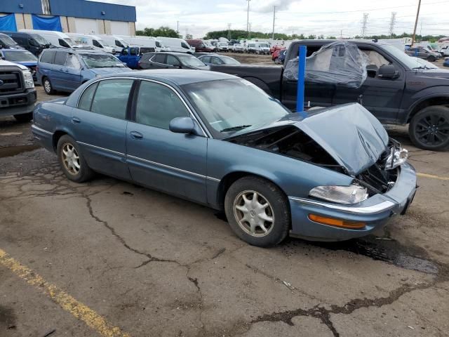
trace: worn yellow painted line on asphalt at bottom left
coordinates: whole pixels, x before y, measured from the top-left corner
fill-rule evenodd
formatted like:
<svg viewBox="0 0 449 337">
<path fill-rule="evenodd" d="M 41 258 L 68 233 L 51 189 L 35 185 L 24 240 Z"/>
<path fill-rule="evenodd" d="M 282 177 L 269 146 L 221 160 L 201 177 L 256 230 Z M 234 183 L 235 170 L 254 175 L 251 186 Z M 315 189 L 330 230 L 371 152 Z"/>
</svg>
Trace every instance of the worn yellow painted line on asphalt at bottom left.
<svg viewBox="0 0 449 337">
<path fill-rule="evenodd" d="M 81 319 L 84 323 L 90 326 L 92 329 L 100 333 L 105 337 L 130 337 L 128 333 L 124 333 L 117 326 L 112 326 L 105 317 L 98 315 L 87 305 L 76 300 L 65 291 L 62 291 L 51 283 L 46 282 L 43 277 L 36 274 L 33 270 L 29 269 L 25 265 L 22 265 L 18 260 L 11 258 L 5 251 L 0 249 L 0 264 L 7 267 L 14 272 L 15 275 L 24 279 L 28 284 L 35 286 L 39 291 L 50 297 L 53 302 L 60 305 L 60 307 L 70 312 L 77 319 Z"/>
</svg>

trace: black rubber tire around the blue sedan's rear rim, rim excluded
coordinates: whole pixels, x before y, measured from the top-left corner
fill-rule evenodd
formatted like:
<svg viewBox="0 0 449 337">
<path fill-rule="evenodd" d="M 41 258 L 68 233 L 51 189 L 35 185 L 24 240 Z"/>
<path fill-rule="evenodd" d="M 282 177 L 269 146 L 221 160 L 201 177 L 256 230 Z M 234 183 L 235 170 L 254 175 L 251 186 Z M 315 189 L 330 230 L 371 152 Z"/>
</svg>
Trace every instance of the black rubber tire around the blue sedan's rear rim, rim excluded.
<svg viewBox="0 0 449 337">
<path fill-rule="evenodd" d="M 79 158 L 79 171 L 77 173 L 70 171 L 68 167 L 69 164 L 65 164 L 64 162 L 62 149 L 65 149 L 66 145 L 70 145 L 76 150 L 75 153 Z M 84 159 L 83 154 L 81 153 L 79 145 L 72 137 L 64 135 L 58 140 L 56 154 L 58 155 L 58 161 L 61 166 L 62 172 L 64 172 L 65 176 L 69 178 L 69 180 L 72 180 L 75 183 L 83 183 L 84 181 L 90 180 L 93 177 L 94 172 L 88 166 L 86 159 Z"/>
</svg>

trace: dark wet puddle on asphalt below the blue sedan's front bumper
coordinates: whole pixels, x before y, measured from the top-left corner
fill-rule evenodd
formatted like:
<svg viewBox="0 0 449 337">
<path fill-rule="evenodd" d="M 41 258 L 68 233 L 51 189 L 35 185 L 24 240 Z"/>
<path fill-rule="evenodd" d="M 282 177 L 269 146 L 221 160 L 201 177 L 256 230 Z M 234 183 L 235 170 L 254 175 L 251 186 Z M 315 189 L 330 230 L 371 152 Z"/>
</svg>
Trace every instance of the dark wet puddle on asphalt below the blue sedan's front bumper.
<svg viewBox="0 0 449 337">
<path fill-rule="evenodd" d="M 438 265 L 427 259 L 424 249 L 417 246 L 403 246 L 394 239 L 368 236 L 345 242 L 319 243 L 316 246 L 333 251 L 349 251 L 408 270 L 438 274 Z"/>
</svg>

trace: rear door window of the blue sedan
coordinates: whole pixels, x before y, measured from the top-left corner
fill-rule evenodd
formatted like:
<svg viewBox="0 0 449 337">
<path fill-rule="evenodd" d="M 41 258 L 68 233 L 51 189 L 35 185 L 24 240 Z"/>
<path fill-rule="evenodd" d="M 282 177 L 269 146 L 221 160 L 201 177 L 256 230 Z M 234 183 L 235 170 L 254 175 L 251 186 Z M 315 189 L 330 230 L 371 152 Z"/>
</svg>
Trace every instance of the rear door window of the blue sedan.
<svg viewBox="0 0 449 337">
<path fill-rule="evenodd" d="M 126 119 L 126 106 L 131 86 L 133 86 L 132 79 L 100 81 L 95 91 L 91 111 L 108 117 Z"/>
</svg>

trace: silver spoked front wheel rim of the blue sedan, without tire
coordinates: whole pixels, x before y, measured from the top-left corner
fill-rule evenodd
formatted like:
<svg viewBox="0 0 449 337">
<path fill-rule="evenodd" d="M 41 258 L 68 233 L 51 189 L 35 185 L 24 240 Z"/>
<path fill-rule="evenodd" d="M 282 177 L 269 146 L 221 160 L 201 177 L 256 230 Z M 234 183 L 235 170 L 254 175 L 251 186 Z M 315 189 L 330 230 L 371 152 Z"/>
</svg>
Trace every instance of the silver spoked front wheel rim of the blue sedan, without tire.
<svg viewBox="0 0 449 337">
<path fill-rule="evenodd" d="M 272 205 L 260 193 L 247 190 L 234 199 L 234 216 L 246 233 L 253 237 L 264 237 L 274 227 Z"/>
</svg>

